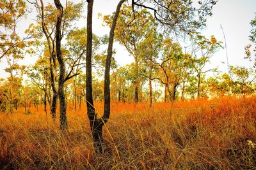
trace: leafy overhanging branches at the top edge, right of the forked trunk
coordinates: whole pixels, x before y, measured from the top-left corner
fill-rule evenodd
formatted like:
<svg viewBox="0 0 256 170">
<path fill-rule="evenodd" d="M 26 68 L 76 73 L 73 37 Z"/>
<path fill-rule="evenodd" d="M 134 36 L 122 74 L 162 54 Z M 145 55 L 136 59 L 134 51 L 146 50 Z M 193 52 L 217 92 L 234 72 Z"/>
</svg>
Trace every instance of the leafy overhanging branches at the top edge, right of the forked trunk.
<svg viewBox="0 0 256 170">
<path fill-rule="evenodd" d="M 156 20 L 164 27 L 164 32 L 174 32 L 179 36 L 180 33 L 193 32 L 204 27 L 206 17 L 212 15 L 211 10 L 216 2 L 206 0 L 195 4 L 191 0 L 132 0 L 132 11 L 137 10 L 136 7 L 152 11 Z"/>
</svg>

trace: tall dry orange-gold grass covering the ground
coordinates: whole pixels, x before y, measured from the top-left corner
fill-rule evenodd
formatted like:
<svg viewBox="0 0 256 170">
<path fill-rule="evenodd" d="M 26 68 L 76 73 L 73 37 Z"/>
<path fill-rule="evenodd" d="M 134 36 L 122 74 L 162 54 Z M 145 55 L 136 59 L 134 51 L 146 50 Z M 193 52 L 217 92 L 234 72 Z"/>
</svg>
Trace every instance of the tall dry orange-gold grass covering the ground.
<svg viewBox="0 0 256 170">
<path fill-rule="evenodd" d="M 68 105 L 64 134 L 43 110 L 0 112 L 0 169 L 256 169 L 256 97 L 176 102 L 172 113 L 113 102 L 99 155 L 84 105 Z"/>
</svg>

